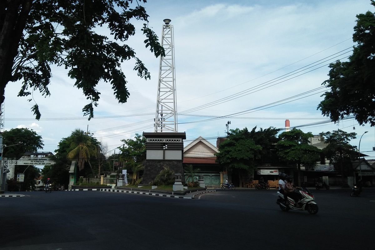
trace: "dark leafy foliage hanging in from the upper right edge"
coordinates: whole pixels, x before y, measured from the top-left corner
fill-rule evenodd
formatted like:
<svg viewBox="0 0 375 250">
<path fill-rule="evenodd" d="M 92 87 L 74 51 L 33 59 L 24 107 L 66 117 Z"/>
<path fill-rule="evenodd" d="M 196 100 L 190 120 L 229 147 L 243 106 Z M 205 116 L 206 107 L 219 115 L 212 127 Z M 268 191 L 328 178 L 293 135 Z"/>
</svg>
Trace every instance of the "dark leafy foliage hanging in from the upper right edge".
<svg viewBox="0 0 375 250">
<path fill-rule="evenodd" d="M 375 1 L 371 0 L 375 7 Z M 330 88 L 317 109 L 339 121 L 353 114 L 359 124 L 375 126 L 375 12 L 359 14 L 354 27 L 353 48 L 349 61 L 330 64 L 329 79 L 322 85 Z"/>
</svg>

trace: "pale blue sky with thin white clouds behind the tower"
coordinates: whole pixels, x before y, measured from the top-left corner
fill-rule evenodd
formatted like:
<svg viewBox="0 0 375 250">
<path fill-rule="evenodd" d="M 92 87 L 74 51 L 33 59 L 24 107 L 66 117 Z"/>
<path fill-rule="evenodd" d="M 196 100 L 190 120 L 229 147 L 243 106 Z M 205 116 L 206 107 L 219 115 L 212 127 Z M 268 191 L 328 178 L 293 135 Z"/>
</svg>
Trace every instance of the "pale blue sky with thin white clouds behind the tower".
<svg viewBox="0 0 375 250">
<path fill-rule="evenodd" d="M 251 130 L 284 128 L 289 119 L 291 127 L 310 124 L 298 128 L 314 135 L 336 129 L 356 132 L 351 144 L 357 147 L 368 131 L 360 151 L 369 155 L 366 159 L 375 159 L 374 127 L 360 126 L 353 119 L 319 124 L 329 118 L 317 110 L 326 90 L 321 84 L 328 79 L 328 64 L 351 55 L 356 15 L 375 11 L 369 0 L 149 0 L 142 5 L 150 16 L 149 27 L 159 38 L 163 19 L 172 20 L 178 132 L 186 132 L 185 145 L 198 136 L 216 145 L 216 138 L 226 135 L 228 121 L 229 129 Z M 88 130 L 107 145 L 110 154 L 118 153 L 121 139 L 153 132 L 159 58 L 145 48 L 142 23 L 134 23 L 136 35 L 127 44 L 145 63 L 151 79 L 136 75 L 134 61 L 121 64 L 130 92 L 126 103 L 119 104 L 111 85 L 101 82 L 99 106 L 88 121 L 82 112 L 86 97 L 73 86 L 67 70 L 53 66 L 50 97 L 34 92 L 28 102 L 28 97 L 17 97 L 21 82 L 7 85 L 5 130 L 33 129 L 42 136 L 40 151 L 50 152 L 73 130 Z M 98 32 L 110 37 L 106 28 Z M 30 109 L 35 102 L 42 113 L 39 121 Z M 212 104 L 187 112 L 207 103 Z M 232 115 L 238 112 L 243 113 Z M 207 119 L 211 120 L 202 121 Z"/>
</svg>

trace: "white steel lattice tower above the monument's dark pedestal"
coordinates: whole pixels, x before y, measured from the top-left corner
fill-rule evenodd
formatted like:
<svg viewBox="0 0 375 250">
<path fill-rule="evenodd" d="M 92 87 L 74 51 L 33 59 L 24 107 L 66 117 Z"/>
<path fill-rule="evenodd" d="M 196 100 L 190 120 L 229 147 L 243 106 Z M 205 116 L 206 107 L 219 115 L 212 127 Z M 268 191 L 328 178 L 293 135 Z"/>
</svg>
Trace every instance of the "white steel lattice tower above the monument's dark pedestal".
<svg viewBox="0 0 375 250">
<path fill-rule="evenodd" d="M 173 25 L 169 24 L 170 19 L 164 19 L 163 22 L 161 45 L 165 57 L 160 57 L 154 132 L 177 132 Z"/>
</svg>

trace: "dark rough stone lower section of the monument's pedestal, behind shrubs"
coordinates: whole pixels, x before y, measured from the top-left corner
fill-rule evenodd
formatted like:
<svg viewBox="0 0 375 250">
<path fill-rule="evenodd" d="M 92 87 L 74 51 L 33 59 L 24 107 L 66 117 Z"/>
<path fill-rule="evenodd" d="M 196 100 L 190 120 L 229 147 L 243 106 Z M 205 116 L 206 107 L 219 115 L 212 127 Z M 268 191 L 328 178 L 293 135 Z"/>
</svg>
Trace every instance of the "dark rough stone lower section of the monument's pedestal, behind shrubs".
<svg viewBox="0 0 375 250">
<path fill-rule="evenodd" d="M 181 174 L 181 182 L 185 183 L 182 160 L 146 160 L 142 176 L 142 184 L 148 185 L 164 168 L 171 169 L 175 174 Z"/>
</svg>

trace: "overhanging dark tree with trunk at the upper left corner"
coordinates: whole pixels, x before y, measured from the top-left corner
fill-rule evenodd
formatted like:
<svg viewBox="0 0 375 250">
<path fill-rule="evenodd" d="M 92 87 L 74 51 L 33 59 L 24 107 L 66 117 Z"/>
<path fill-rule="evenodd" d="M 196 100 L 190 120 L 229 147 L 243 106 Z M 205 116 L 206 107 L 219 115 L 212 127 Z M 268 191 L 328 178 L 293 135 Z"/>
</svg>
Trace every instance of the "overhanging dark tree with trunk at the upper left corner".
<svg viewBox="0 0 375 250">
<path fill-rule="evenodd" d="M 89 120 L 93 106 L 98 106 L 100 93 L 96 85 L 100 81 L 109 82 L 118 102 L 125 103 L 129 91 L 120 67 L 123 61 L 134 60 L 133 70 L 138 76 L 150 79 L 135 51 L 124 44 L 135 34 L 130 20 L 143 21 L 145 46 L 156 57 L 165 55 L 157 36 L 148 28 L 147 18 L 145 8 L 133 0 L 1 1 L 0 104 L 4 102 L 7 83 L 18 80 L 23 81 L 18 96 L 31 96 L 34 90 L 49 96 L 53 64 L 69 69 L 68 76 L 82 89 L 89 100 L 82 111 Z M 97 27 L 102 26 L 108 28 L 111 38 L 97 33 Z M 38 105 L 31 109 L 39 120 Z"/>
</svg>

